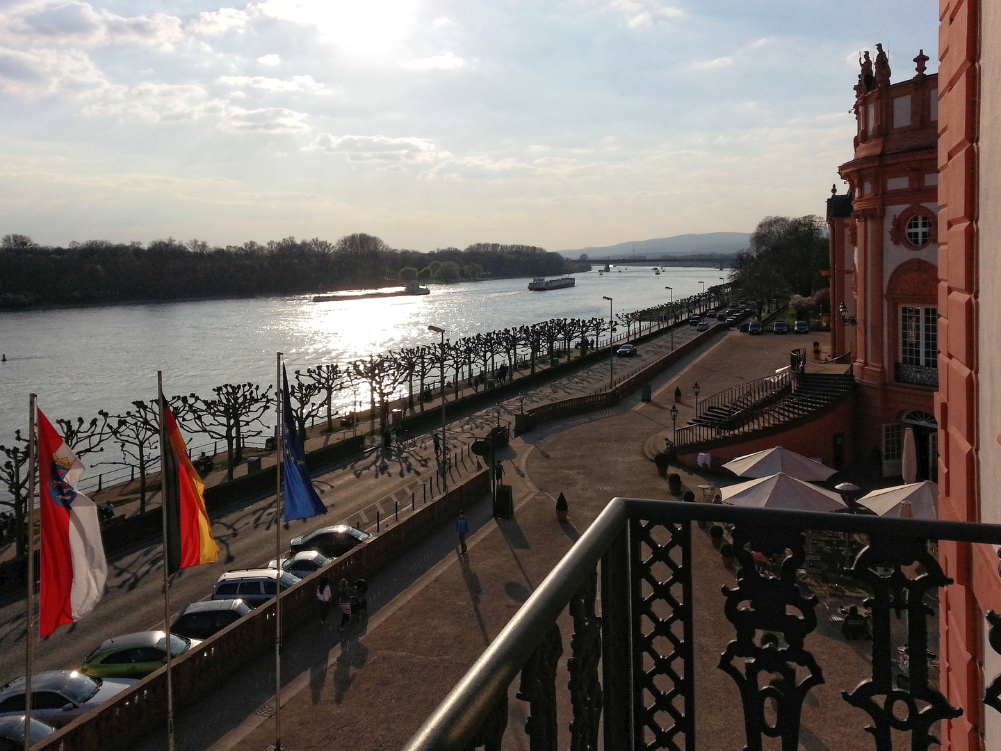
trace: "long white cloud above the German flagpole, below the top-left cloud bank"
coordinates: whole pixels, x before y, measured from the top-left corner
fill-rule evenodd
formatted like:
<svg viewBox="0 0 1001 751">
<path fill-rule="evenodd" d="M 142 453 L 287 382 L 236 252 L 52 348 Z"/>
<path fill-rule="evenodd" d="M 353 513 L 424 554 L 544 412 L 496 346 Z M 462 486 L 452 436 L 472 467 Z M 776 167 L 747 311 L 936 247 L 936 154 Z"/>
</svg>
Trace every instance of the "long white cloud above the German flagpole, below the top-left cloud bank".
<svg viewBox="0 0 1001 751">
<path fill-rule="evenodd" d="M 224 108 L 225 102 L 209 99 L 201 86 L 140 83 L 131 88 L 115 86 L 100 101 L 84 107 L 82 114 L 169 124 L 220 115 Z"/>
</svg>

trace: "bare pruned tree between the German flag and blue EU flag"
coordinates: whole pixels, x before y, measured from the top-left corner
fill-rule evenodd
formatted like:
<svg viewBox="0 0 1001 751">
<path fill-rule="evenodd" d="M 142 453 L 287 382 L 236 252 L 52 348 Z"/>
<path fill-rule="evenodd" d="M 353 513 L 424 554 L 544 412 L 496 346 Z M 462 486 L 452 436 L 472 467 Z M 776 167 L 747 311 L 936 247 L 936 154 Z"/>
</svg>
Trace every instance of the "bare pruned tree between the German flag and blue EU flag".
<svg viewBox="0 0 1001 751">
<path fill-rule="evenodd" d="M 191 395 L 191 420 L 210 438 L 226 442 L 226 480 L 243 461 L 243 444 L 260 436 L 261 418 L 271 407 L 271 387 L 263 392 L 257 384 L 224 384 L 212 390 L 213 399 Z"/>
</svg>

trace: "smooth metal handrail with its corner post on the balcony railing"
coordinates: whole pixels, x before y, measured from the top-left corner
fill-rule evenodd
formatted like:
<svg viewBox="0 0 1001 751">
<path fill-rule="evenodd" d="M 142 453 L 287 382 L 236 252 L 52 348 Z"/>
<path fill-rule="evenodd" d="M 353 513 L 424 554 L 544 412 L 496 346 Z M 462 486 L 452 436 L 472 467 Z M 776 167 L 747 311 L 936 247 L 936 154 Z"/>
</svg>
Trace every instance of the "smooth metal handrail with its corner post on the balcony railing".
<svg viewBox="0 0 1001 751">
<path fill-rule="evenodd" d="M 403 751 L 463 751 L 469 748 L 470 741 L 488 720 L 490 713 L 507 700 L 509 685 L 543 643 L 571 598 L 587 578 L 594 574 L 599 562 L 602 562 L 604 602 L 622 595 L 608 587 L 606 569 L 621 563 L 621 559 L 616 561 L 615 556 L 617 553 L 621 555 L 624 552 L 622 548 L 627 546 L 627 522 L 630 520 L 660 524 L 693 521 L 743 524 L 760 530 L 824 530 L 884 540 L 925 539 L 1001 544 L 1001 525 L 614 498 L 409 739 Z M 626 597 L 629 597 L 628 593 Z M 603 606 L 603 614 L 607 621 L 613 619 L 613 610 L 607 604 Z M 628 636 L 622 635 L 622 638 L 629 641 Z M 603 638 L 606 649 L 611 646 L 609 641 L 610 638 Z M 608 656 L 609 652 L 606 651 L 606 657 Z M 606 665 L 605 670 L 608 680 L 610 666 Z M 629 685 L 628 677 L 623 680 L 625 683 L 622 685 Z M 617 698 L 612 694 L 606 686 L 604 696 L 607 714 L 613 713 L 613 701 L 622 701 L 621 697 Z M 616 737 L 625 726 L 618 722 L 621 719 L 606 716 L 604 720 L 605 748 L 609 751 L 632 748 L 630 738 Z"/>
</svg>

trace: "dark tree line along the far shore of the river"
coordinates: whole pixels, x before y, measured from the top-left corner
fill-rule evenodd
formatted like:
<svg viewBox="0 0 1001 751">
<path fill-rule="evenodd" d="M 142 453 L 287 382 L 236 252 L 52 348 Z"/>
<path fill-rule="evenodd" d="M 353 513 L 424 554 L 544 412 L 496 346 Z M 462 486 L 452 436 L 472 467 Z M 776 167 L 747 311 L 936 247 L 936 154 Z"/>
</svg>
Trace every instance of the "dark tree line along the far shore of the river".
<svg viewBox="0 0 1001 751">
<path fill-rule="evenodd" d="M 0 240 L 0 308 L 296 294 L 590 268 L 532 245 L 480 242 L 422 253 L 363 233 L 335 242 L 285 237 L 226 247 L 172 237 L 145 246 L 88 240 L 42 247 L 26 235 L 7 234 Z"/>
</svg>

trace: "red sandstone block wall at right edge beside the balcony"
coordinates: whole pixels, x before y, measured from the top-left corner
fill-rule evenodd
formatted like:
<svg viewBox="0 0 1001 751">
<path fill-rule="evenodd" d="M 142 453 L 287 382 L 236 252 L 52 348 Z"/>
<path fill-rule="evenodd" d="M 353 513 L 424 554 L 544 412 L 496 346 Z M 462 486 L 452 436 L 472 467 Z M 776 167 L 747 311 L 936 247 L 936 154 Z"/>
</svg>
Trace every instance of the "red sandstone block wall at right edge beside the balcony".
<svg viewBox="0 0 1001 751">
<path fill-rule="evenodd" d="M 1001 8 L 941 0 L 939 27 L 939 517 L 1001 523 Z M 1001 613 L 990 546 L 939 548 L 948 588 L 940 609 L 941 689 L 955 705 L 1001 673 L 984 617 Z M 1001 751 L 1001 714 L 943 728 L 943 748 Z"/>
</svg>

